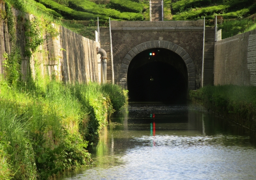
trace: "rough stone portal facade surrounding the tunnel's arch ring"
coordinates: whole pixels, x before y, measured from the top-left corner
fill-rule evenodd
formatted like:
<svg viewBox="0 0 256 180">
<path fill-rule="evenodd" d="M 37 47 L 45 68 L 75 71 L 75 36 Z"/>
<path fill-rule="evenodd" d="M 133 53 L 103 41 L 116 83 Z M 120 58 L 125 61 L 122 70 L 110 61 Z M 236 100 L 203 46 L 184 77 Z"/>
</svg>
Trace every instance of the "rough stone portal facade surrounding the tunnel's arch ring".
<svg viewBox="0 0 256 180">
<path fill-rule="evenodd" d="M 191 57 L 195 66 L 193 89 L 201 84 L 204 21 L 157 21 L 124 22 L 111 21 L 113 46 L 113 68 L 115 83 L 119 83 L 122 74 L 122 61 L 138 45 L 150 42 L 169 42 L 182 48 Z M 150 46 L 151 48 L 157 46 Z M 150 48 L 150 47 L 146 47 Z M 145 50 L 145 49 L 143 49 Z M 124 85 L 125 86 L 125 85 Z"/>
</svg>

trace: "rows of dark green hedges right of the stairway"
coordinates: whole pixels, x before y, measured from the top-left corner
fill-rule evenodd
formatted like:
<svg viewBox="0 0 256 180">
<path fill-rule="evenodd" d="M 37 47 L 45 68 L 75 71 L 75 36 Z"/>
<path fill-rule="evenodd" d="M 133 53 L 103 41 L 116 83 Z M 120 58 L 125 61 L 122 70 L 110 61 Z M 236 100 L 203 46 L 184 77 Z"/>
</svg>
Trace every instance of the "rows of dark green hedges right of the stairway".
<svg viewBox="0 0 256 180">
<path fill-rule="evenodd" d="M 221 15 L 224 19 L 243 18 L 256 13 L 253 0 L 180 0 L 171 4 L 173 20 L 214 19 Z"/>
</svg>

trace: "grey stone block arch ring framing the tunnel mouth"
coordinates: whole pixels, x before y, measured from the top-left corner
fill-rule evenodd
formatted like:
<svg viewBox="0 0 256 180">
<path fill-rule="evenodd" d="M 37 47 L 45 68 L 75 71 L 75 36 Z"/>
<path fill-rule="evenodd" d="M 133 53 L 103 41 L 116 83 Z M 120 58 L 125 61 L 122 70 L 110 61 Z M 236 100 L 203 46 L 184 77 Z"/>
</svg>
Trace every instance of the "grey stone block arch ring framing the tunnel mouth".
<svg viewBox="0 0 256 180">
<path fill-rule="evenodd" d="M 120 70 L 120 78 L 119 78 L 119 84 L 127 89 L 127 71 L 129 64 L 131 60 L 140 52 L 150 49 L 150 48 L 166 48 L 169 49 L 175 53 L 177 53 L 183 61 L 186 63 L 187 71 L 188 71 L 188 88 L 190 90 L 195 90 L 195 65 L 192 61 L 189 54 L 181 48 L 179 45 L 169 42 L 169 41 L 163 41 L 163 40 L 154 40 L 154 41 L 148 41 L 143 42 L 129 51 L 125 58 L 122 60 L 121 64 L 121 70 Z"/>
</svg>

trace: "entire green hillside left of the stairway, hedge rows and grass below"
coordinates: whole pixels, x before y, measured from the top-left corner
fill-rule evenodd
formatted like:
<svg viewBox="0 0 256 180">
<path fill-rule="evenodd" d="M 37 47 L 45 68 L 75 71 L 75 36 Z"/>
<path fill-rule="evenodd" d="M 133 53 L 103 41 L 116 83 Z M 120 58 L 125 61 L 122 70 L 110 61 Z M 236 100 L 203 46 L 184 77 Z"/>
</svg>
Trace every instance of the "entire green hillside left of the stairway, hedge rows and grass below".
<svg viewBox="0 0 256 180">
<path fill-rule="evenodd" d="M 149 20 L 148 1 L 100 1 L 91 0 L 4 0 L 20 11 L 63 25 L 89 39 L 95 39 L 96 20 L 101 26 L 108 26 L 112 20 Z M 129 6 L 127 6 L 129 4 Z M 10 6 L 10 7 L 11 7 Z M 111 7 L 115 7 L 112 9 Z M 119 10 L 119 8 L 121 10 Z M 135 12 L 134 12 L 135 11 Z M 68 21 L 70 20 L 70 21 Z M 29 55 L 29 54 L 28 54 Z"/>
</svg>

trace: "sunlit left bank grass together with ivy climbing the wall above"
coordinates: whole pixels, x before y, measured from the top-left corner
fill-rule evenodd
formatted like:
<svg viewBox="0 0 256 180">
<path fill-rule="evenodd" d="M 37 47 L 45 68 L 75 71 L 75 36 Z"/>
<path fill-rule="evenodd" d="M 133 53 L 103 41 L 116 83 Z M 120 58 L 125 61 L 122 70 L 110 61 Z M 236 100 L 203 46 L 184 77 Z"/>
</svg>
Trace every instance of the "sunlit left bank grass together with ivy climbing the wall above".
<svg viewBox="0 0 256 180">
<path fill-rule="evenodd" d="M 22 13 L 15 18 L 11 5 L 34 16 L 30 21 Z M 42 62 L 36 53 L 47 53 L 39 46 L 58 36 L 58 26 L 52 22 L 61 22 L 45 13 L 43 5 L 36 5 L 33 0 L 9 0 L 6 12 L 1 12 L 1 18 L 7 20 L 12 50 L 3 53 L 4 73 L 0 76 L 0 179 L 47 180 L 64 169 L 90 165 L 86 147 L 98 140 L 108 116 L 127 101 L 127 92 L 117 85 L 63 84 L 54 76 L 41 75 Z M 34 75 L 30 66 L 26 77 L 20 73 L 17 24 L 25 28 L 24 55 L 33 57 Z"/>
</svg>

